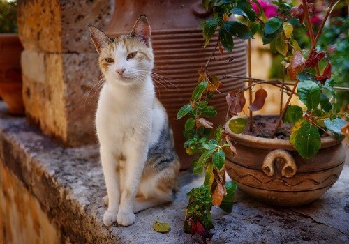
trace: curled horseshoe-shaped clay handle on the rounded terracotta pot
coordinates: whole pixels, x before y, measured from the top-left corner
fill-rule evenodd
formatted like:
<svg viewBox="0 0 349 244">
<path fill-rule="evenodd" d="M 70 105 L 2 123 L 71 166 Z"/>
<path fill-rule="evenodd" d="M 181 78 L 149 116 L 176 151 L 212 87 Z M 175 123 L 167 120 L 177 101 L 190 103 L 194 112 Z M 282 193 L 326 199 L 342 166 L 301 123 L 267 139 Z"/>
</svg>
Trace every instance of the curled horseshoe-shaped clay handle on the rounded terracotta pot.
<svg viewBox="0 0 349 244">
<path fill-rule="evenodd" d="M 297 166 L 295 159 L 292 157 L 292 155 L 284 150 L 284 149 L 276 149 L 271 152 L 269 152 L 263 161 L 262 165 L 262 171 L 264 174 L 266 174 L 269 177 L 274 176 L 274 162 L 277 160 L 283 160 L 285 162 L 285 165 L 283 166 L 283 169 L 281 170 L 281 176 L 285 178 L 291 178 L 296 174 Z"/>
</svg>

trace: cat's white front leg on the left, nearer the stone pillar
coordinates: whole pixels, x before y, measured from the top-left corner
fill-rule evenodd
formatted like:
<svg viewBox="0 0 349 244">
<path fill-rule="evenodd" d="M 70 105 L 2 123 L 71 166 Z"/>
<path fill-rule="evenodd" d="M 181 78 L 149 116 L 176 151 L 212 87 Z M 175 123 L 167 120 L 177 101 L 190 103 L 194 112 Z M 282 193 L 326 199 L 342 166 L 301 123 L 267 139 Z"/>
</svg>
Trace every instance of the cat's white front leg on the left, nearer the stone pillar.
<svg viewBox="0 0 349 244">
<path fill-rule="evenodd" d="M 117 173 L 117 162 L 112 151 L 101 146 L 101 161 L 107 187 L 108 208 L 103 216 L 103 222 L 106 226 L 117 222 L 117 213 L 119 210 L 120 188 L 119 173 Z"/>
</svg>

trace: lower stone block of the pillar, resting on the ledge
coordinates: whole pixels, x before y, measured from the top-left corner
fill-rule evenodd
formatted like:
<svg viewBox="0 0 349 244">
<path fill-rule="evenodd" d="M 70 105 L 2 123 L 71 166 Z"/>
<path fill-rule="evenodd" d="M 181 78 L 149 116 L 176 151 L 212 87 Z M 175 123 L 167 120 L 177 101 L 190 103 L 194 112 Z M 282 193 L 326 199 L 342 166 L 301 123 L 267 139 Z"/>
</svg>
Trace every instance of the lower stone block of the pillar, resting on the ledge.
<svg viewBox="0 0 349 244">
<path fill-rule="evenodd" d="M 44 59 L 44 82 L 23 75 L 29 122 L 66 146 L 95 143 L 94 113 L 101 86 L 97 54 L 45 54 Z"/>
</svg>

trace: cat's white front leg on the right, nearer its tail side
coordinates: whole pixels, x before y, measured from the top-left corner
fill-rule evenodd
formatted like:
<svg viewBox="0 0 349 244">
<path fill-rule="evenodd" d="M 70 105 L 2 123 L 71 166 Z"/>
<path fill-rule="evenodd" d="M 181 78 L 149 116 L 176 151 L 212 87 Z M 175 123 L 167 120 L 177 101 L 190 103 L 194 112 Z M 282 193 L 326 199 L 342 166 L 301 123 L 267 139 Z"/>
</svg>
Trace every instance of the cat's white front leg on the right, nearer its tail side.
<svg viewBox="0 0 349 244">
<path fill-rule="evenodd" d="M 124 169 L 124 184 L 121 188 L 121 199 L 117 223 L 123 226 L 135 222 L 133 206 L 135 195 L 140 185 L 140 178 L 147 160 L 148 143 L 138 139 L 138 142 L 128 141 L 126 146 L 126 167 Z"/>
</svg>

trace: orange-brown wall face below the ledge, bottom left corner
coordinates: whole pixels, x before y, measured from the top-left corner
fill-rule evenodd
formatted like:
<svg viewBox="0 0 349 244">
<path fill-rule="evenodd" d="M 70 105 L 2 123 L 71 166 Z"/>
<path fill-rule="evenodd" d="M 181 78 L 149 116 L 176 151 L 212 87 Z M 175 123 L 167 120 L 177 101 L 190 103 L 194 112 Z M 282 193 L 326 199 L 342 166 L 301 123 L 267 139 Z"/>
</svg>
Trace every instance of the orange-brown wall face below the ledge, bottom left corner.
<svg viewBox="0 0 349 244">
<path fill-rule="evenodd" d="M 38 199 L 0 163 L 0 242 L 59 243 L 63 236 L 47 218 Z M 68 243 L 68 241 L 66 241 Z"/>
</svg>

